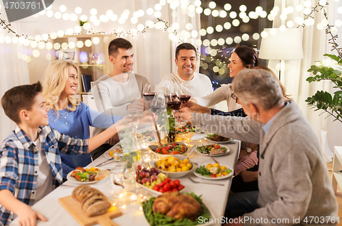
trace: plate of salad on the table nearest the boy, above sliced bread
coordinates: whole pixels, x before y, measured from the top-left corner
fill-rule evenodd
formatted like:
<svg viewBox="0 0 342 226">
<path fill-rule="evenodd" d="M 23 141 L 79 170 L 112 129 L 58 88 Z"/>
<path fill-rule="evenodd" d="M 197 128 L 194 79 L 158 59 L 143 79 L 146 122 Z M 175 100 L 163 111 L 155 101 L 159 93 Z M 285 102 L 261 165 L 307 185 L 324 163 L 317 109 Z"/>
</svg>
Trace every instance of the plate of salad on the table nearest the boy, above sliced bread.
<svg viewBox="0 0 342 226">
<path fill-rule="evenodd" d="M 75 171 L 76 170 L 78 170 L 78 167 Z M 95 180 L 95 176 L 98 172 L 101 172 L 101 169 L 95 167 L 86 168 L 84 171 L 79 171 L 75 177 L 71 176 L 73 172 L 74 171 L 70 171 L 68 175 L 66 175 L 66 179 L 68 179 L 68 181 L 75 184 L 94 184 L 99 182 L 99 180 Z M 107 176 L 105 178 L 107 178 Z"/>
</svg>

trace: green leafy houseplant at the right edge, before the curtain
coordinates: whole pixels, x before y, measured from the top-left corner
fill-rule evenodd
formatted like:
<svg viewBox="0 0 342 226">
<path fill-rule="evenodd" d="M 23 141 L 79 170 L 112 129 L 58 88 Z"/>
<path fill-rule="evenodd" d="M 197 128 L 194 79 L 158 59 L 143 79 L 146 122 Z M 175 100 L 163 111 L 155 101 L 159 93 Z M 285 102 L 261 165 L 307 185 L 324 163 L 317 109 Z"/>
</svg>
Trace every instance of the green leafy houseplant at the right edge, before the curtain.
<svg viewBox="0 0 342 226">
<path fill-rule="evenodd" d="M 323 113 L 328 113 L 328 116 L 334 117 L 334 121 L 339 120 L 342 122 L 342 59 L 337 55 L 325 54 L 324 56 L 330 57 L 334 63 L 324 65 L 324 63 L 319 61 L 321 65 L 311 66 L 308 72 L 313 72 L 314 76 L 308 77 L 306 81 L 312 83 L 315 81 L 330 80 L 336 85 L 334 88 L 339 88 L 339 90 L 334 92 L 334 96 L 327 91 L 317 91 L 315 95 L 308 97 L 305 101 L 315 111 L 323 110 Z"/>
</svg>

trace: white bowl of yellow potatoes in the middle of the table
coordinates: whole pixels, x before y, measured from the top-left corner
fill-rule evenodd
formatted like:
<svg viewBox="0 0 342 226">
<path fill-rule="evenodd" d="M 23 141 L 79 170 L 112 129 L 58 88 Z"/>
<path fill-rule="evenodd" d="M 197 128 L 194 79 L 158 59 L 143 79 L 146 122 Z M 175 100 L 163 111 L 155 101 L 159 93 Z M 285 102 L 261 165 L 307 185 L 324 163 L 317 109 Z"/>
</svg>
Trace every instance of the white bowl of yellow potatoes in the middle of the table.
<svg viewBox="0 0 342 226">
<path fill-rule="evenodd" d="M 166 156 L 166 158 L 151 163 L 170 178 L 181 178 L 187 175 L 194 165 L 192 161 L 180 155 Z"/>
</svg>

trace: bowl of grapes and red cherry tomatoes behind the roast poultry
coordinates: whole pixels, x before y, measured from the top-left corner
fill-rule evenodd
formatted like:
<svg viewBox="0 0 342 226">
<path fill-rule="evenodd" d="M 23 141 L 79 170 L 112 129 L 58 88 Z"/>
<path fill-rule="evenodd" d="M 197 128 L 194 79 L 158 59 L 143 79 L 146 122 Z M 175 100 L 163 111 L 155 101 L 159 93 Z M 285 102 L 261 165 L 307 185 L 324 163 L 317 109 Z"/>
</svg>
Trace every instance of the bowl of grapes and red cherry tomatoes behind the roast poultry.
<svg viewBox="0 0 342 226">
<path fill-rule="evenodd" d="M 178 190 L 181 192 L 185 189 L 185 186 L 183 186 L 179 180 L 176 179 L 172 181 L 171 178 L 168 178 L 164 173 L 161 173 L 154 167 L 149 169 L 142 165 L 138 165 L 135 173 L 137 173 L 137 184 L 157 195 L 167 191 Z"/>
</svg>

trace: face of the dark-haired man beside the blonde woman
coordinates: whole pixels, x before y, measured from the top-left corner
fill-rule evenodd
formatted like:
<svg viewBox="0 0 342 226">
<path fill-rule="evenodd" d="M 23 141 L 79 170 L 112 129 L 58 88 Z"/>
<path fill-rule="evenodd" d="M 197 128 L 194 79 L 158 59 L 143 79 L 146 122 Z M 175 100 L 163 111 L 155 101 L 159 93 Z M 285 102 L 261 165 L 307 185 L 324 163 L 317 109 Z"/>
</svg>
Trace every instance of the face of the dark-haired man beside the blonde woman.
<svg viewBox="0 0 342 226">
<path fill-rule="evenodd" d="M 131 48 L 118 48 L 116 57 L 109 55 L 109 61 L 114 64 L 115 74 L 131 72 L 133 70 L 134 54 Z"/>
</svg>

